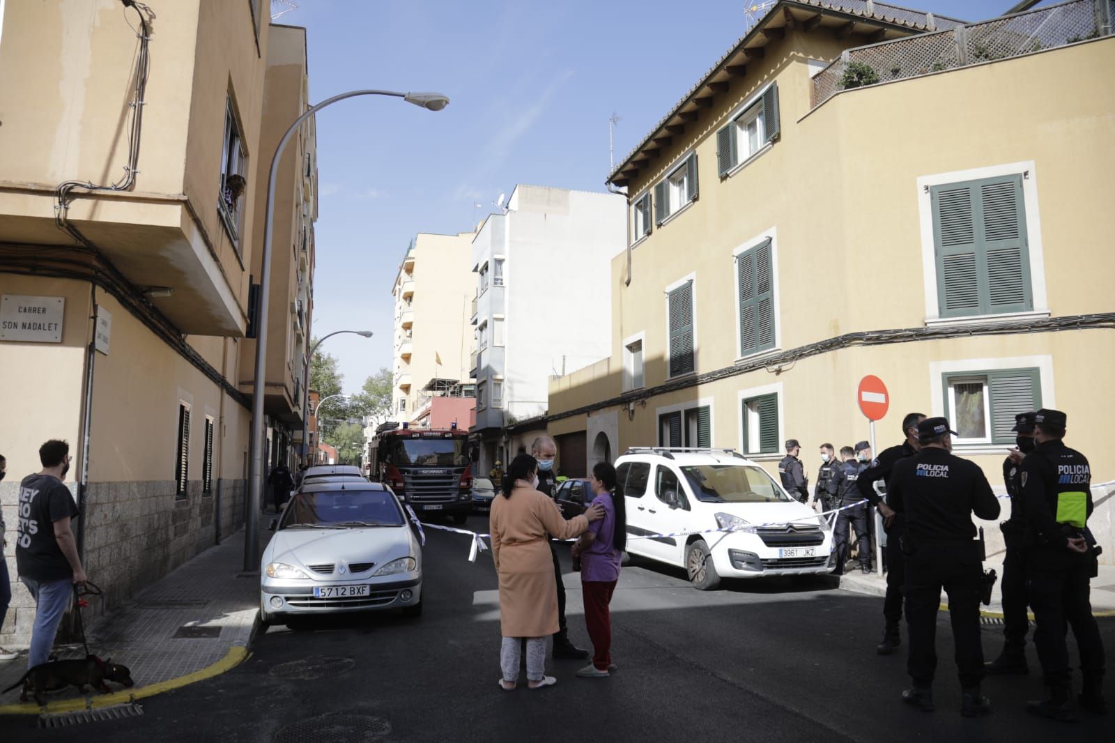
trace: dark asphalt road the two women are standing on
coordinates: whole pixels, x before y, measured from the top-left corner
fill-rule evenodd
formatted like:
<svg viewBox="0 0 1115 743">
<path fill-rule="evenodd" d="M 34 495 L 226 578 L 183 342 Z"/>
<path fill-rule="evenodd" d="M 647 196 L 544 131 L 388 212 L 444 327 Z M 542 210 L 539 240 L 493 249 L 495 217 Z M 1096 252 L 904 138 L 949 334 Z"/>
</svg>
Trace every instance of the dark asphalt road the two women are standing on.
<svg viewBox="0 0 1115 743">
<path fill-rule="evenodd" d="M 486 518 L 466 528 L 485 530 Z M 941 615 L 938 710 L 905 707 L 903 652 L 875 655 L 882 599 L 835 588 L 831 578 L 739 581 L 701 592 L 683 573 L 648 562 L 623 569 L 612 601 L 608 679 L 573 676 L 580 662 L 549 662 L 555 686 L 496 686 L 498 602 L 488 553 L 467 561 L 468 540 L 427 532 L 425 614 L 316 620 L 258 637 L 232 672 L 144 701 L 140 717 L 33 730 L 0 721 L 3 741 L 1046 741 L 1109 740 L 1109 718 L 1077 725 L 1022 708 L 1040 694 L 1029 677 L 989 678 L 993 712 L 959 714 L 951 633 Z M 560 548 L 569 566 L 569 548 Z M 589 647 L 576 573 L 569 617 Z M 1112 655 L 1115 621 L 1101 620 Z M 985 652 L 1000 628 L 987 626 Z M 904 639 L 904 637 L 903 637 Z M 1075 660 L 1074 660 L 1075 665 Z M 1108 679 L 1111 676 L 1108 676 Z M 1106 696 L 1115 701 L 1115 684 Z"/>
</svg>

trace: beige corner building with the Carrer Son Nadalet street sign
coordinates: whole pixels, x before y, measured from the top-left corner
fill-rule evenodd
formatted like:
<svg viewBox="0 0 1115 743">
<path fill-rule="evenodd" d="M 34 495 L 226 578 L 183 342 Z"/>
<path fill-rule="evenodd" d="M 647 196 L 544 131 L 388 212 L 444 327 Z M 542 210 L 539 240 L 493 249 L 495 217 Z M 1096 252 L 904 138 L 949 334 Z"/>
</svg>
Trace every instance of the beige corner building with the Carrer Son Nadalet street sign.
<svg viewBox="0 0 1115 743">
<path fill-rule="evenodd" d="M 105 591 L 97 612 L 243 519 L 240 385 L 270 158 L 261 131 L 274 128 L 264 91 L 285 94 L 271 87 L 263 3 L 0 8 L 0 70 L 19 70 L 0 75 L 0 503 L 13 528 L 38 446 L 69 441 L 79 551 Z M 277 273 L 274 303 L 289 308 L 299 297 Z M 273 347 L 289 327 L 271 322 Z M 26 641 L 33 618 L 13 589 L 6 645 Z"/>
</svg>

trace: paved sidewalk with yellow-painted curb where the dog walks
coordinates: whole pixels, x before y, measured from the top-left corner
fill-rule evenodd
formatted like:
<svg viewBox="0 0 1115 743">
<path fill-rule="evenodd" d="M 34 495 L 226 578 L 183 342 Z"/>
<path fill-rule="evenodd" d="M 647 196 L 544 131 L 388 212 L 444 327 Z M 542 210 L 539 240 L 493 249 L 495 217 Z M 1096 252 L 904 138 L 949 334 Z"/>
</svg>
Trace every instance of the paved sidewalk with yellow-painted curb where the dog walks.
<svg viewBox="0 0 1115 743">
<path fill-rule="evenodd" d="M 261 540 L 266 544 L 266 532 Z M 260 576 L 243 573 L 244 531 L 227 537 L 86 628 L 89 652 L 127 666 L 135 686 L 109 682 L 113 694 L 51 693 L 46 712 L 105 707 L 215 676 L 248 657 L 260 601 Z M 259 561 L 255 562 L 259 565 Z M 94 577 L 95 579 L 95 577 Z M 95 580 L 96 582 L 96 580 Z M 80 644 L 57 646 L 59 658 L 80 658 Z M 27 655 L 0 660 L 0 689 L 27 670 Z M 38 714 L 20 688 L 0 694 L 0 714 Z"/>
</svg>

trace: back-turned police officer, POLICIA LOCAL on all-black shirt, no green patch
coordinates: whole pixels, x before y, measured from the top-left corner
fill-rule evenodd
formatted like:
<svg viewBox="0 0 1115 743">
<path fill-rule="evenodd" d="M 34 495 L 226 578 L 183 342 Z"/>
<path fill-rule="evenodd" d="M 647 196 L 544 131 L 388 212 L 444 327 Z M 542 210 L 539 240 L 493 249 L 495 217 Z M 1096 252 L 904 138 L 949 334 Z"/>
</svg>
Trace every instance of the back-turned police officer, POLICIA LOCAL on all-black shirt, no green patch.
<svg viewBox="0 0 1115 743">
<path fill-rule="evenodd" d="M 905 517 L 901 541 L 906 558 L 910 626 L 906 670 L 913 687 L 902 692 L 902 698 L 920 710 L 933 710 L 934 634 L 943 587 L 949 595 L 957 668 L 963 689 L 960 714 L 973 717 L 990 712 L 991 704 L 979 688 L 983 679 L 979 629 L 983 561 L 972 513 L 980 519 L 996 519 L 999 501 L 975 462 L 952 455 L 956 433 L 949 428 L 948 419 L 925 418 L 918 424 L 918 435 L 921 450 L 895 463 L 886 481 L 891 508 Z"/>
</svg>

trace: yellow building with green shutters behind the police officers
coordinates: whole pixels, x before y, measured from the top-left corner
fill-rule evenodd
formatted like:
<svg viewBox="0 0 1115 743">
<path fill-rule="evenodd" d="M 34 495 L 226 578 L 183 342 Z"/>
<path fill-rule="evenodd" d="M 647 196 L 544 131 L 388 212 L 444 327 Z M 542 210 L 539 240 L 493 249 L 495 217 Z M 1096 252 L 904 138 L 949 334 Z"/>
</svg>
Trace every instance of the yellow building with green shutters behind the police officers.
<svg viewBox="0 0 1115 743">
<path fill-rule="evenodd" d="M 867 437 L 874 374 L 879 448 L 947 415 L 1000 483 L 1014 414 L 1056 407 L 1109 484 L 1112 4 L 776 3 L 610 174 L 611 354 L 553 382 L 550 432 L 590 462 L 711 445 L 772 472 L 797 438 L 815 470 Z"/>
</svg>

